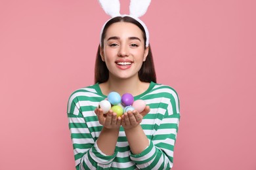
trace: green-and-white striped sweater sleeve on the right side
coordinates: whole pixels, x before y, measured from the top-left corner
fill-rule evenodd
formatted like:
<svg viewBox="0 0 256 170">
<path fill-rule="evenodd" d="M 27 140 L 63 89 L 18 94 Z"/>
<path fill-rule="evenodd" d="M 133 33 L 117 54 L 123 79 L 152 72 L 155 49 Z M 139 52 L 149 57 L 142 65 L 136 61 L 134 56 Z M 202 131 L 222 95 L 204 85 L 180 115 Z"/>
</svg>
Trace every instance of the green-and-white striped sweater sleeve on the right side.
<svg viewBox="0 0 256 170">
<path fill-rule="evenodd" d="M 131 153 L 139 169 L 171 169 L 173 167 L 173 150 L 179 127 L 179 98 L 170 97 L 165 114 L 149 146 L 140 154 Z"/>
</svg>

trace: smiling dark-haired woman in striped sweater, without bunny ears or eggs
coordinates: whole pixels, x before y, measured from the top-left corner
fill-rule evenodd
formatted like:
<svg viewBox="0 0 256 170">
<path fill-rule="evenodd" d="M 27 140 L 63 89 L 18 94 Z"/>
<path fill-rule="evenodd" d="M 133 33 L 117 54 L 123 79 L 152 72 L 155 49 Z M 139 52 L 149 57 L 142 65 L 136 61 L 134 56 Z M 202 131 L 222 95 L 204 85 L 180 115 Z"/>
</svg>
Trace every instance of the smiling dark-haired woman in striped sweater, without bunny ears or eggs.
<svg viewBox="0 0 256 170">
<path fill-rule="evenodd" d="M 103 114 L 108 93 L 131 93 L 146 108 Z M 76 90 L 68 118 L 77 169 L 171 169 L 179 126 L 179 98 L 156 83 L 144 27 L 129 16 L 109 20 L 96 56 L 95 84 Z"/>
</svg>

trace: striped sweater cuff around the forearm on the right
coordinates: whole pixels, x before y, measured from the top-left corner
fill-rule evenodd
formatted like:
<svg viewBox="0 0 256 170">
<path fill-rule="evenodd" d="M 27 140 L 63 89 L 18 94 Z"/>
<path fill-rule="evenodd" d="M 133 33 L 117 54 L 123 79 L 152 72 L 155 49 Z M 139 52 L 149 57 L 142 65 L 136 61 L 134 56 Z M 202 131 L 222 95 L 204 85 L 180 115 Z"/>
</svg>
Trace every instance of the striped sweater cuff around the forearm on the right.
<svg viewBox="0 0 256 170">
<path fill-rule="evenodd" d="M 156 147 L 152 141 L 149 141 L 149 146 L 146 147 L 140 154 L 133 154 L 130 152 L 131 160 L 135 161 L 136 164 L 150 163 L 156 157 Z"/>
</svg>

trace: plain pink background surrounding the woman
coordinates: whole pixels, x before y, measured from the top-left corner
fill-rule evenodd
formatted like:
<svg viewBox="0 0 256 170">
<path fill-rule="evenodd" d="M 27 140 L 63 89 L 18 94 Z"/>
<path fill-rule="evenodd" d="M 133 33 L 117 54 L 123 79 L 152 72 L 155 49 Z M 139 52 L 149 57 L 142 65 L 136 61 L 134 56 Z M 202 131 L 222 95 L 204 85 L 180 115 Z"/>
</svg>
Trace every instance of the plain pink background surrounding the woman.
<svg viewBox="0 0 256 170">
<path fill-rule="evenodd" d="M 255 7 L 153 0 L 142 17 L 158 82 L 180 97 L 173 170 L 256 169 Z M 0 169 L 74 169 L 66 105 L 93 84 L 107 19 L 96 0 L 0 1 Z"/>
</svg>

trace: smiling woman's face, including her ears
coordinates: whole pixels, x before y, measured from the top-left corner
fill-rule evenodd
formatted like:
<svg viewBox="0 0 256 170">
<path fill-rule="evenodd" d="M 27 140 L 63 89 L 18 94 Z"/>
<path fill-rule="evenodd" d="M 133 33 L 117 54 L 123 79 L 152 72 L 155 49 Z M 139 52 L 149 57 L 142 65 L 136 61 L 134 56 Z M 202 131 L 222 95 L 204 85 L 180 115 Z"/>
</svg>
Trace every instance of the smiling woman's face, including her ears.
<svg viewBox="0 0 256 170">
<path fill-rule="evenodd" d="M 142 31 L 137 25 L 128 22 L 110 25 L 106 31 L 104 47 L 100 49 L 100 56 L 108 67 L 110 77 L 139 78 L 142 62 L 148 56 Z"/>
</svg>

